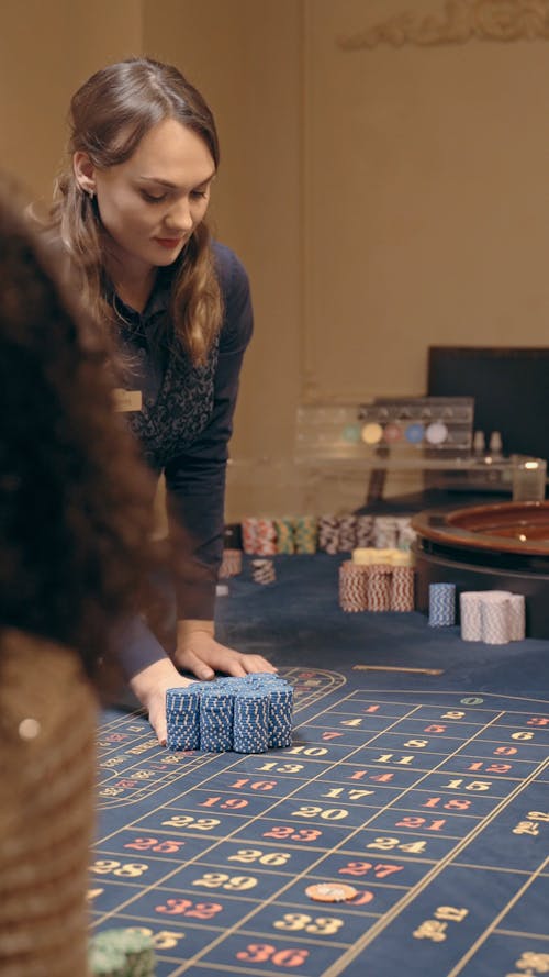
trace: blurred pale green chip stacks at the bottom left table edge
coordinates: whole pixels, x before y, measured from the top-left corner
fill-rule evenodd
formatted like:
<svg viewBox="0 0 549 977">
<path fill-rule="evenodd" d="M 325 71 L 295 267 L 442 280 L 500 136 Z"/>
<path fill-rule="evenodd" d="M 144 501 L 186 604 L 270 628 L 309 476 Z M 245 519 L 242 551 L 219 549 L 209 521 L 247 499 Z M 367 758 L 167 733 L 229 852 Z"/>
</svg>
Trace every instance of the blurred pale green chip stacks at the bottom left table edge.
<svg viewBox="0 0 549 977">
<path fill-rule="evenodd" d="M 154 977 L 150 936 L 138 930 L 103 930 L 90 940 L 89 968 L 93 977 Z"/>
</svg>

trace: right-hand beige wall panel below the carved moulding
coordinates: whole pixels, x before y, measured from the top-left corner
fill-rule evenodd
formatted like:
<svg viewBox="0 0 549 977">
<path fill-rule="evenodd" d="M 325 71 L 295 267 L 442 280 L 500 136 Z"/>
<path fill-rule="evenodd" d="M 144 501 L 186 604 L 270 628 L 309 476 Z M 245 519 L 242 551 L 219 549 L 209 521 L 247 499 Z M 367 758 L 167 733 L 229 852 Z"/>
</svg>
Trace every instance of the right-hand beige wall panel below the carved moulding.
<svg viewBox="0 0 549 977">
<path fill-rule="evenodd" d="M 306 0 L 310 396 L 421 393 L 429 344 L 547 342 L 549 38 L 337 43 L 445 7 Z"/>
</svg>

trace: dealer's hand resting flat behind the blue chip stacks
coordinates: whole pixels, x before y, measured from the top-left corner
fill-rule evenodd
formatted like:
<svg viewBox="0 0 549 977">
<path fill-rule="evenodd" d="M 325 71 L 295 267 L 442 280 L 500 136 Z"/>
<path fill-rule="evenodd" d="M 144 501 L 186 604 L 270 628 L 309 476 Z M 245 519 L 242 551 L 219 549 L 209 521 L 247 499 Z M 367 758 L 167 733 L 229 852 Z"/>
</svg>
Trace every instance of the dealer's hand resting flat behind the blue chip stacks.
<svg viewBox="0 0 549 977">
<path fill-rule="evenodd" d="M 237 678 L 255 671 L 277 671 L 262 655 L 245 655 L 215 641 L 211 621 L 178 622 L 173 663 L 202 680 L 214 678 L 216 671 Z"/>
</svg>

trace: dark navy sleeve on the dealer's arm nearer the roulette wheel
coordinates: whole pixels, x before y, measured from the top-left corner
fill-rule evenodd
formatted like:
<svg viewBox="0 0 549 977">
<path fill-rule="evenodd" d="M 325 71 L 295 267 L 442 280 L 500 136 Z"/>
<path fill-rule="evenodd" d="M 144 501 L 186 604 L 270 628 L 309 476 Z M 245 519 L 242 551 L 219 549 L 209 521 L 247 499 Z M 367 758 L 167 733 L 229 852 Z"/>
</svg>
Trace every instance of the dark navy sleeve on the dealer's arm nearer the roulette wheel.
<svg viewBox="0 0 549 977">
<path fill-rule="evenodd" d="M 166 466 L 170 535 L 179 551 L 179 619 L 212 620 L 215 585 L 223 555 L 225 475 L 228 441 L 238 395 L 240 368 L 251 338 L 253 311 L 248 276 L 236 255 L 214 246 L 224 301 L 213 411 L 195 441 Z M 183 540 L 176 534 L 183 529 Z"/>
</svg>

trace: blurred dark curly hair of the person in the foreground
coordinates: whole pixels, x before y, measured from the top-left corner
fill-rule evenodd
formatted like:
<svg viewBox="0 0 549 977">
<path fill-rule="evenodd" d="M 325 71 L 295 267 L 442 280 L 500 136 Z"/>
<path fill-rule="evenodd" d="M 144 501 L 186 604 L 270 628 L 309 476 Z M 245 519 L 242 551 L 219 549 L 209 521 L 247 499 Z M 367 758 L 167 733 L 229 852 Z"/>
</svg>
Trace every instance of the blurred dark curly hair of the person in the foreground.
<svg viewBox="0 0 549 977">
<path fill-rule="evenodd" d="M 97 331 L 12 198 L 0 188 L 0 628 L 74 646 L 93 675 L 144 596 L 154 486 Z"/>
</svg>

